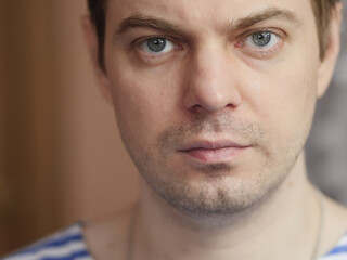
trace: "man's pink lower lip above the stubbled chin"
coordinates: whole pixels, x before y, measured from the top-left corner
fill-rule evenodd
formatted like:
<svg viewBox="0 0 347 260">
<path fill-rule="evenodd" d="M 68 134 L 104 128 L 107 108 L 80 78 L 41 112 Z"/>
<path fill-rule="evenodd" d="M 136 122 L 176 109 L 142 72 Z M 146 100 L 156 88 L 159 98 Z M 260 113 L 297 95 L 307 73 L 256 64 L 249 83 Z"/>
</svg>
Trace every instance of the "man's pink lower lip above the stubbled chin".
<svg viewBox="0 0 347 260">
<path fill-rule="evenodd" d="M 235 156 L 244 152 L 247 147 L 221 147 L 221 148 L 195 148 L 184 151 L 189 156 L 204 162 L 224 162 L 233 159 Z"/>
</svg>

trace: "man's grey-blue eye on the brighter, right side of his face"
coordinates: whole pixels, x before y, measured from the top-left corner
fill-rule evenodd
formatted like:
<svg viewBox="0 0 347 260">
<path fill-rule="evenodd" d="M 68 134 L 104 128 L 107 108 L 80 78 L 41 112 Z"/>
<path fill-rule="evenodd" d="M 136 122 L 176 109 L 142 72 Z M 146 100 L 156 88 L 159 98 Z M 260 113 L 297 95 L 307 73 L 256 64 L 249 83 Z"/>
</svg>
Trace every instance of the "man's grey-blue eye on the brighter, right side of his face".
<svg viewBox="0 0 347 260">
<path fill-rule="evenodd" d="M 245 39 L 245 44 L 250 48 L 270 49 L 280 41 L 280 37 L 271 31 L 257 31 Z"/>
</svg>

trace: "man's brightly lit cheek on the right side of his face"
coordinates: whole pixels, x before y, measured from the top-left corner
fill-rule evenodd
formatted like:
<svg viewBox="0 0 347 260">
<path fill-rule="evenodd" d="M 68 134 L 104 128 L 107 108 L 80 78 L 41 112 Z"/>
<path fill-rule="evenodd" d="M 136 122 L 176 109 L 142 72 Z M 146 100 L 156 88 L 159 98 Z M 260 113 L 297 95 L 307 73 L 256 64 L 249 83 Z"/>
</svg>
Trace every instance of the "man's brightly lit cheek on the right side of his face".
<svg viewBox="0 0 347 260">
<path fill-rule="evenodd" d="M 281 147 L 304 145 L 316 105 L 314 68 L 309 64 L 292 64 L 254 74 L 248 88 L 247 102 L 254 118 L 260 120 L 272 144 Z"/>
</svg>

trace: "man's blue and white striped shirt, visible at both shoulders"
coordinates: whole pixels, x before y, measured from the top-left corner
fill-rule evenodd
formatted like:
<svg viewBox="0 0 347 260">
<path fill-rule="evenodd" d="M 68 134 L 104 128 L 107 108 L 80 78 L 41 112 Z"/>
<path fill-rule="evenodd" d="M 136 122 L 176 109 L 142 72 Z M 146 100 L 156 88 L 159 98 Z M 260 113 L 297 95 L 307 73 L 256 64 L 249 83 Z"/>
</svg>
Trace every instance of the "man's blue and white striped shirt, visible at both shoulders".
<svg viewBox="0 0 347 260">
<path fill-rule="evenodd" d="M 76 223 L 0 260 L 94 260 L 83 239 L 82 224 Z M 318 260 L 347 260 L 347 233 Z"/>
</svg>

